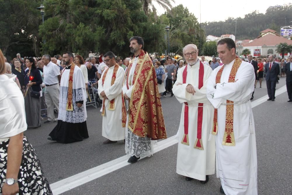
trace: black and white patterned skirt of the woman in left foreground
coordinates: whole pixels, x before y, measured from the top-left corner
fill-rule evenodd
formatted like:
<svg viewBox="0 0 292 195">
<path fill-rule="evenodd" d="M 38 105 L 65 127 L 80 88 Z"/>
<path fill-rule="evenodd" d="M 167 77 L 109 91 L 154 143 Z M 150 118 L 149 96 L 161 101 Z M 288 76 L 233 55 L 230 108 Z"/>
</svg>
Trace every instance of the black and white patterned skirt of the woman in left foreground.
<svg viewBox="0 0 292 195">
<path fill-rule="evenodd" d="M 1 189 L 6 179 L 7 149 L 9 140 L 0 141 L 0 182 Z M 49 183 L 41 170 L 41 163 L 32 145 L 23 137 L 23 152 L 18 173 L 18 194 L 52 194 Z M 2 190 L 0 192 L 2 194 Z"/>
</svg>

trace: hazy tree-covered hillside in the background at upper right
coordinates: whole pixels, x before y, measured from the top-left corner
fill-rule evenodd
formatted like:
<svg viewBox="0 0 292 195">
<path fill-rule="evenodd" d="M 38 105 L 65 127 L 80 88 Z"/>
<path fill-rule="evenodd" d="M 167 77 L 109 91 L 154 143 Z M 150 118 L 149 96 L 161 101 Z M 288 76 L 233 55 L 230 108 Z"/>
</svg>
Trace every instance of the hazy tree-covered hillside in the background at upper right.
<svg viewBox="0 0 292 195">
<path fill-rule="evenodd" d="M 222 34 L 235 35 L 236 39 L 254 39 L 260 31 L 270 28 L 280 33 L 280 27 L 292 25 L 292 4 L 269 7 L 266 13 L 253 11 L 246 14 L 244 18 L 228 18 L 225 21 L 202 23 L 206 35 L 220 37 Z"/>
</svg>

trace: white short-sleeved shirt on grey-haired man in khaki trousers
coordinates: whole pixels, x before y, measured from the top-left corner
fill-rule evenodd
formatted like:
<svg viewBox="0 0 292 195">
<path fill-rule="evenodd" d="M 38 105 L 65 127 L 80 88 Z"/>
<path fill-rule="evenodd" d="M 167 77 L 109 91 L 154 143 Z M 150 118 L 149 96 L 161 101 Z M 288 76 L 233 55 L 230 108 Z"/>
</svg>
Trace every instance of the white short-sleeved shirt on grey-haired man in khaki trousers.
<svg viewBox="0 0 292 195">
<path fill-rule="evenodd" d="M 49 62 L 44 66 L 44 84 L 52 85 L 59 83 L 58 75 L 60 74 L 60 67 L 53 62 Z"/>
</svg>

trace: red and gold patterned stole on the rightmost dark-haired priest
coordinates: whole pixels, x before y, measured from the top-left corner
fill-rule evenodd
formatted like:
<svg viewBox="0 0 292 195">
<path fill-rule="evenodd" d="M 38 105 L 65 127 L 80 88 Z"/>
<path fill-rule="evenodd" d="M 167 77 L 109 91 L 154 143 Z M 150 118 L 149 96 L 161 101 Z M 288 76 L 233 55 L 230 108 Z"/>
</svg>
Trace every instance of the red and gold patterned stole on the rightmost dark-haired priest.
<svg viewBox="0 0 292 195">
<path fill-rule="evenodd" d="M 242 61 L 239 57 L 235 58 L 235 61 L 230 71 L 228 82 L 234 82 L 235 75 L 237 73 L 239 66 L 241 65 L 241 62 Z M 223 65 L 222 68 L 220 68 L 220 70 L 218 71 L 216 75 L 216 84 L 220 83 L 221 75 L 222 75 L 224 67 L 225 65 Z M 225 145 L 225 146 L 235 146 L 234 133 L 233 133 L 233 113 L 234 113 L 233 101 L 226 100 L 225 132 L 224 132 L 223 141 L 222 141 L 222 145 Z M 215 108 L 212 134 L 216 135 L 217 131 L 218 131 L 218 110 L 217 108 Z"/>
</svg>

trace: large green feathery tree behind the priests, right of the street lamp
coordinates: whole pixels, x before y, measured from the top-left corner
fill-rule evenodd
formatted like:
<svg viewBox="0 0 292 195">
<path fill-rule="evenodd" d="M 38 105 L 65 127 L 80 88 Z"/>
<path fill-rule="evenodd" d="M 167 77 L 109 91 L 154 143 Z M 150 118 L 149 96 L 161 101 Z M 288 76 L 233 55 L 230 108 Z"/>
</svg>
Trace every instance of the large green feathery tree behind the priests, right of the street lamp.
<svg viewBox="0 0 292 195">
<path fill-rule="evenodd" d="M 128 57 L 133 55 L 129 49 L 132 36 L 144 38 L 145 51 L 162 51 L 163 27 L 149 19 L 152 15 L 145 15 L 139 0 L 50 0 L 46 4 L 51 17 L 39 28 L 46 40 L 43 53 L 69 50 L 86 56 L 112 51 Z"/>
</svg>

